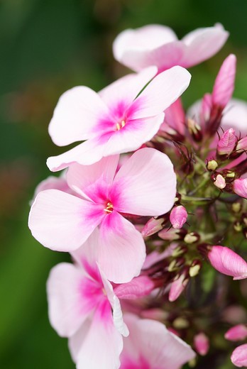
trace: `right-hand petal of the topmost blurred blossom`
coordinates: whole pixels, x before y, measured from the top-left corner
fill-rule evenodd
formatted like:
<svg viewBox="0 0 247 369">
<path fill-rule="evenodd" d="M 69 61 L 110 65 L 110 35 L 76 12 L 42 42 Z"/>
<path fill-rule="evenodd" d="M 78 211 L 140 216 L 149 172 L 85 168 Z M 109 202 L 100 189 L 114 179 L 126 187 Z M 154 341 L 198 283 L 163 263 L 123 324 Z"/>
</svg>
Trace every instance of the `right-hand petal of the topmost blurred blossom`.
<svg viewBox="0 0 247 369">
<path fill-rule="evenodd" d="M 186 53 L 180 61 L 183 67 L 192 67 L 215 55 L 224 45 L 229 33 L 224 30 L 221 24 L 214 27 L 198 28 L 182 38 L 186 48 Z"/>
</svg>

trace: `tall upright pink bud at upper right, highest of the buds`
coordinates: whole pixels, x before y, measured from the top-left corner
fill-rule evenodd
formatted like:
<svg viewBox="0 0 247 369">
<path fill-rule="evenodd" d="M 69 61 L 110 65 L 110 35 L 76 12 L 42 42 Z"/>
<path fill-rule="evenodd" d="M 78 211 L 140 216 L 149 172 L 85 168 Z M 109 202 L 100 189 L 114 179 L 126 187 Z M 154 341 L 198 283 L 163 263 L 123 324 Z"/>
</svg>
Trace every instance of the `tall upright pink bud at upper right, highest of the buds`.
<svg viewBox="0 0 247 369">
<path fill-rule="evenodd" d="M 212 102 L 216 106 L 224 108 L 234 92 L 236 75 L 236 56 L 230 54 L 224 60 L 214 82 Z"/>
</svg>

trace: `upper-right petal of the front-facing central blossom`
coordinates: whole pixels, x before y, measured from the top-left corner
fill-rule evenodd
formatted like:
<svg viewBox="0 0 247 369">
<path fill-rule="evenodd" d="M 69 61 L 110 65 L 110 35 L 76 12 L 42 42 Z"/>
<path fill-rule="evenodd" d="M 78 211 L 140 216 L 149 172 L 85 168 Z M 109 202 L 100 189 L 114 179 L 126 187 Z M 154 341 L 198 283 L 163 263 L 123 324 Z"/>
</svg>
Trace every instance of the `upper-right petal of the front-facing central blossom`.
<svg viewBox="0 0 247 369">
<path fill-rule="evenodd" d="M 143 216 L 165 214 L 174 204 L 176 176 L 167 155 L 153 148 L 133 153 L 111 189 L 114 209 Z"/>
</svg>

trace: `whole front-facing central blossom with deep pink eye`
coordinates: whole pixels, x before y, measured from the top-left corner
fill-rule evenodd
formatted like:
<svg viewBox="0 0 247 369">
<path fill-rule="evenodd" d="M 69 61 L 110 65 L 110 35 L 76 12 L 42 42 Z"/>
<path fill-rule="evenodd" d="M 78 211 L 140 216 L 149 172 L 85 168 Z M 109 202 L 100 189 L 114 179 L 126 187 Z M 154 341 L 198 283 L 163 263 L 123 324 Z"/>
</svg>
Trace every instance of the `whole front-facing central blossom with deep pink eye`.
<svg viewBox="0 0 247 369">
<path fill-rule="evenodd" d="M 109 280 L 121 283 L 140 273 L 146 256 L 141 233 L 123 215 L 165 214 L 174 203 L 176 177 L 168 156 L 153 148 L 136 151 L 116 172 L 118 163 L 114 155 L 70 165 L 67 183 L 81 198 L 57 189 L 40 192 L 29 228 L 43 246 L 70 252 L 100 225 L 99 263 Z"/>
</svg>

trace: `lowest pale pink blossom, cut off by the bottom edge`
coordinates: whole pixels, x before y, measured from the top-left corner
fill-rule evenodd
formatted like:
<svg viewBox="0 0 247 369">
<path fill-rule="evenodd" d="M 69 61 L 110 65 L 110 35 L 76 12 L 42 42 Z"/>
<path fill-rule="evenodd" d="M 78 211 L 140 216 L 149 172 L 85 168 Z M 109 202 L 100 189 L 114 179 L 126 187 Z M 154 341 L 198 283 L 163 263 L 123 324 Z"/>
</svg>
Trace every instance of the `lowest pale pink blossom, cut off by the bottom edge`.
<svg viewBox="0 0 247 369">
<path fill-rule="evenodd" d="M 126 314 L 130 335 L 124 338 L 121 369 L 179 369 L 194 358 L 192 348 L 159 321 Z"/>
</svg>

